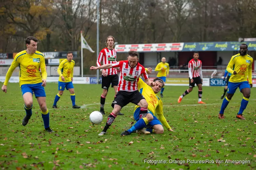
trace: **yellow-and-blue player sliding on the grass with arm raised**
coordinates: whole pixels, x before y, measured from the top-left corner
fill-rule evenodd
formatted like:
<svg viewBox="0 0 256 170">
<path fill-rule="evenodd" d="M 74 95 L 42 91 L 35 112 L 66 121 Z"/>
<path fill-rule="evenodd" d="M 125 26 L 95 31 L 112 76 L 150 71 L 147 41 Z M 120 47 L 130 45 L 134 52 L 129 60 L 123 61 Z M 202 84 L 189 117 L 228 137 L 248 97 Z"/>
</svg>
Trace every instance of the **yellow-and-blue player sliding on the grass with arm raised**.
<svg viewBox="0 0 256 170">
<path fill-rule="evenodd" d="M 163 125 L 168 129 L 168 131 L 174 132 L 168 122 L 166 121 L 165 117 L 163 116 L 163 104 L 161 99 L 158 97 L 157 93 L 161 90 L 163 86 L 163 80 L 156 78 L 153 80 L 155 82 L 154 87 L 148 86 L 143 80 L 140 78 L 138 81 L 138 90 L 144 96 L 148 103 L 148 111 L 146 115 L 140 114 L 140 107 L 135 106 L 134 108 L 134 119 L 137 121 L 131 129 L 124 131 L 121 133 L 123 135 L 130 135 L 132 132 L 136 130 L 141 130 L 143 128 L 147 128 L 146 132 L 148 133 L 163 133 Z M 160 121 L 155 116 L 157 114 Z M 144 132 L 144 131 L 142 131 Z M 145 133 L 145 132 L 144 132 Z M 145 133 L 147 134 L 147 133 Z"/>
</svg>

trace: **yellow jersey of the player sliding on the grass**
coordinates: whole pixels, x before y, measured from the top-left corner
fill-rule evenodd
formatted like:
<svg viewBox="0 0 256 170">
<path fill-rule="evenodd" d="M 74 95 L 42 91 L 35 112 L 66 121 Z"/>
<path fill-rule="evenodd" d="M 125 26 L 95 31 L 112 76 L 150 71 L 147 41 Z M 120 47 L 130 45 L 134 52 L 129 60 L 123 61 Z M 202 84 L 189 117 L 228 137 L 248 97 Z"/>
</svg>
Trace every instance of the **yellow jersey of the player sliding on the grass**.
<svg viewBox="0 0 256 170">
<path fill-rule="evenodd" d="M 168 124 L 165 117 L 163 116 L 163 103 L 162 103 L 161 99 L 159 98 L 159 96 L 157 94 L 155 94 L 155 92 L 153 91 L 153 89 L 150 86 L 148 86 L 145 82 L 143 82 L 143 80 L 141 78 L 139 78 L 139 81 L 138 81 L 138 90 L 144 96 L 144 98 L 146 99 L 146 101 L 148 103 L 147 109 L 149 111 L 151 111 L 154 114 L 154 116 L 155 116 L 155 114 L 157 114 L 161 123 L 168 130 L 171 129 L 170 125 Z M 134 112 L 138 107 L 140 107 L 140 106 L 138 106 L 138 105 L 135 106 Z"/>
</svg>

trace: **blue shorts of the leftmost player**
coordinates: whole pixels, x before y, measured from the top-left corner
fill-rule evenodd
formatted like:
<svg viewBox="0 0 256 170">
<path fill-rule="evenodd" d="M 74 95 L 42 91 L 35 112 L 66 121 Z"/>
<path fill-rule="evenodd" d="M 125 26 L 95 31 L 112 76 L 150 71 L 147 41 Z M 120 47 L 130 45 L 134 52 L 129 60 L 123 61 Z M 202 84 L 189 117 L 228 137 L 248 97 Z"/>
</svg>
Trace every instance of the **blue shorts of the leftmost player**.
<svg viewBox="0 0 256 170">
<path fill-rule="evenodd" d="M 33 92 L 35 94 L 35 97 L 46 97 L 44 87 L 42 86 L 43 83 L 37 83 L 37 84 L 23 84 L 20 88 L 22 89 L 22 96 L 26 92 L 30 92 L 33 95 Z"/>
</svg>

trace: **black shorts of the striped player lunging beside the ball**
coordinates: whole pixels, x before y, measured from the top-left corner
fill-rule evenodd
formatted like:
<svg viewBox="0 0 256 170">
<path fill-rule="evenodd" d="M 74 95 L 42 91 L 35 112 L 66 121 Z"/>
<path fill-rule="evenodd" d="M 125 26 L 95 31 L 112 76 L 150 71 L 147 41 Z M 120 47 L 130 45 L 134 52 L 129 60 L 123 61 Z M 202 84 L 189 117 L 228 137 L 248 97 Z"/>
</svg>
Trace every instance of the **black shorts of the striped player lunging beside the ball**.
<svg viewBox="0 0 256 170">
<path fill-rule="evenodd" d="M 128 91 L 118 91 L 116 94 L 115 100 L 112 102 L 112 107 L 114 107 L 115 104 L 124 107 L 128 103 L 138 104 L 142 99 L 145 99 L 142 94 L 138 90 L 128 92 Z"/>
</svg>

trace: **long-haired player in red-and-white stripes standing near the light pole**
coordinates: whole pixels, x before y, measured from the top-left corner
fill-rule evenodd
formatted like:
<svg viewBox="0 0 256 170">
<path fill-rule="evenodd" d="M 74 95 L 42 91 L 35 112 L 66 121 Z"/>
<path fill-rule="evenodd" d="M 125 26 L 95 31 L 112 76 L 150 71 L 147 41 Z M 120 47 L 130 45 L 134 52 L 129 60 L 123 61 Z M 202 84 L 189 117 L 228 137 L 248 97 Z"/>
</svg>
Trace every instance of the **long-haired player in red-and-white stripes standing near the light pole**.
<svg viewBox="0 0 256 170">
<path fill-rule="evenodd" d="M 106 48 L 103 48 L 98 56 L 97 60 L 97 66 L 101 66 L 101 62 L 104 64 L 113 64 L 116 63 L 116 50 L 113 49 L 115 43 L 115 38 L 113 36 L 108 36 L 106 38 L 105 44 Z M 104 111 L 104 104 L 106 100 L 106 95 L 108 94 L 109 91 L 109 86 L 110 83 L 112 84 L 111 86 L 115 90 L 115 97 L 117 94 L 117 85 L 118 85 L 118 75 L 117 75 L 117 70 L 116 68 L 108 68 L 108 69 L 100 69 L 102 72 L 102 83 L 101 83 L 101 88 L 103 89 L 103 92 L 100 97 L 100 113 L 102 115 L 105 115 Z M 119 113 L 119 115 L 123 115 L 122 113 Z"/>
</svg>

